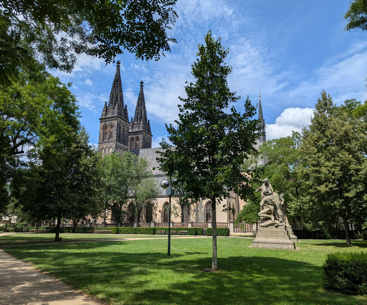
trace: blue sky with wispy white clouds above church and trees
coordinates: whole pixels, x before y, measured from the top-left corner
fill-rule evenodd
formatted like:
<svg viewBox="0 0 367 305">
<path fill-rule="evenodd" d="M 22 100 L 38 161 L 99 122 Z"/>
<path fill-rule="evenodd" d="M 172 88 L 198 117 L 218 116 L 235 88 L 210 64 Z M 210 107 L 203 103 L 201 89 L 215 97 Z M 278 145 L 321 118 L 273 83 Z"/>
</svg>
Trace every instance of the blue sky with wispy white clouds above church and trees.
<svg viewBox="0 0 367 305">
<path fill-rule="evenodd" d="M 313 107 L 326 90 L 338 105 L 349 98 L 367 99 L 367 33 L 344 32 L 348 0 L 178 0 L 177 23 L 168 31 L 172 43 L 158 62 L 121 54 L 121 82 L 129 118 L 134 116 L 139 83 L 144 82 L 147 116 L 159 147 L 168 133 L 164 123 L 178 119 L 178 97 L 186 97 L 185 82 L 193 82 L 191 65 L 197 45 L 211 30 L 229 49 L 226 63 L 231 91 L 241 96 L 243 111 L 249 96 L 258 103 L 259 89 L 266 139 L 289 136 L 310 123 Z M 116 64 L 81 57 L 72 73 L 52 71 L 79 101 L 81 124 L 98 146 L 99 118 L 115 76 Z M 257 118 L 257 115 L 256 115 Z"/>
</svg>

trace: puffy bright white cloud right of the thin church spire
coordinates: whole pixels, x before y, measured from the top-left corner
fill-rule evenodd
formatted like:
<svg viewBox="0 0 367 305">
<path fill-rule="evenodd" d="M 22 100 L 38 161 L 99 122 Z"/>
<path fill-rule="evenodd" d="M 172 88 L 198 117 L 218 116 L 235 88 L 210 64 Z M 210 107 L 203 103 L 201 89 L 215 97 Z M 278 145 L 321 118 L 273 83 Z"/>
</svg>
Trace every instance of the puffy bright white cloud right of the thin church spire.
<svg viewBox="0 0 367 305">
<path fill-rule="evenodd" d="M 292 131 L 301 132 L 304 126 L 310 124 L 313 116 L 312 108 L 286 108 L 275 120 L 275 124 L 266 125 L 266 139 L 277 139 L 291 136 Z"/>
</svg>

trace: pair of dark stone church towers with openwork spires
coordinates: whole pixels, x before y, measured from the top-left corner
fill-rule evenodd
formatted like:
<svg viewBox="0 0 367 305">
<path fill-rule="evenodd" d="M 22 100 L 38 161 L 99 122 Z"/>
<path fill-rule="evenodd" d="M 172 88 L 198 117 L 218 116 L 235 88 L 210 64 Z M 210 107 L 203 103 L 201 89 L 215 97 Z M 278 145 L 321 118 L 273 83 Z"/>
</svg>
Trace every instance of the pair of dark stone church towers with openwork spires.
<svg viewBox="0 0 367 305">
<path fill-rule="evenodd" d="M 128 120 L 127 105 L 121 84 L 120 61 L 117 61 L 115 78 L 112 82 L 108 104 L 105 102 L 101 118 L 99 118 L 98 150 L 102 155 L 113 152 L 122 153 L 127 150 L 139 150 L 152 147 L 150 123 L 146 116 L 143 81 L 135 108 L 134 120 Z"/>
</svg>

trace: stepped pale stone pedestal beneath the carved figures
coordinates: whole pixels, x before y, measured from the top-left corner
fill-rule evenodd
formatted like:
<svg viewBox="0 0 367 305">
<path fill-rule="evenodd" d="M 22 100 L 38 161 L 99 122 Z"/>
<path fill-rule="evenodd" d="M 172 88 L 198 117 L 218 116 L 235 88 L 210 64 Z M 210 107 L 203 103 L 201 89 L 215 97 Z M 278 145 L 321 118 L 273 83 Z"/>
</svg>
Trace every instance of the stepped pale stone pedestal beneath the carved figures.
<svg viewBox="0 0 367 305">
<path fill-rule="evenodd" d="M 294 234 L 293 234 L 294 235 Z M 260 223 L 256 238 L 252 241 L 253 248 L 291 249 L 295 250 L 284 223 L 264 220 Z"/>
</svg>

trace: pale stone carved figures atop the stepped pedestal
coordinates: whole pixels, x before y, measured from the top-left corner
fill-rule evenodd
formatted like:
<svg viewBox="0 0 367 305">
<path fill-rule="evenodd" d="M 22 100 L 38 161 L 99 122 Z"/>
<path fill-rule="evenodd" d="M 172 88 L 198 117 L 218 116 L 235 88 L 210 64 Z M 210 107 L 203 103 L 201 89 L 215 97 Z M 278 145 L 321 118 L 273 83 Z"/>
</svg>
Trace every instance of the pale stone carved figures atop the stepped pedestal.
<svg viewBox="0 0 367 305">
<path fill-rule="evenodd" d="M 281 211 L 281 197 L 273 191 L 268 178 L 262 180 L 263 184 L 255 191 L 261 191 L 260 212 L 262 220 L 260 226 L 284 226 L 284 216 Z"/>
</svg>

